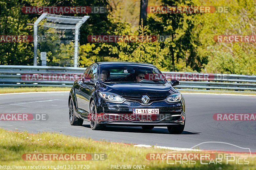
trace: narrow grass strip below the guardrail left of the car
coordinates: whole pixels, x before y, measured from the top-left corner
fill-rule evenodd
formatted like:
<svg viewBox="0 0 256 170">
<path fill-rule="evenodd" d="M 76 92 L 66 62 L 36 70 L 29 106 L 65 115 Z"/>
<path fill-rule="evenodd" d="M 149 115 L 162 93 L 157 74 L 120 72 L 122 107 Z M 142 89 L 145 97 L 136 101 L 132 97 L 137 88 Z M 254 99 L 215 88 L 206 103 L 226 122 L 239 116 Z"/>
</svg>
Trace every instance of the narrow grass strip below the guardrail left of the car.
<svg viewBox="0 0 256 170">
<path fill-rule="evenodd" d="M 0 93 L 70 91 L 71 87 L 1 87 Z"/>
</svg>

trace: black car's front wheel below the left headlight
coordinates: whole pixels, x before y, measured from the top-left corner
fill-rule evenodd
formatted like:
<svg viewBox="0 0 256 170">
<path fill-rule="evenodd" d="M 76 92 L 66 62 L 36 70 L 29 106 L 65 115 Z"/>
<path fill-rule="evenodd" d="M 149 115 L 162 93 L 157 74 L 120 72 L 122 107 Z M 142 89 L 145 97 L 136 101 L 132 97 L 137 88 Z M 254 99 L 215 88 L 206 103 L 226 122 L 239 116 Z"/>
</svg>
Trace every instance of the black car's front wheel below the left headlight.
<svg viewBox="0 0 256 170">
<path fill-rule="evenodd" d="M 92 130 L 102 130 L 103 129 L 103 125 L 102 124 L 98 124 L 98 118 L 97 118 L 97 109 L 95 107 L 95 103 L 92 100 L 91 104 L 90 104 L 90 126 L 92 128 Z"/>
</svg>

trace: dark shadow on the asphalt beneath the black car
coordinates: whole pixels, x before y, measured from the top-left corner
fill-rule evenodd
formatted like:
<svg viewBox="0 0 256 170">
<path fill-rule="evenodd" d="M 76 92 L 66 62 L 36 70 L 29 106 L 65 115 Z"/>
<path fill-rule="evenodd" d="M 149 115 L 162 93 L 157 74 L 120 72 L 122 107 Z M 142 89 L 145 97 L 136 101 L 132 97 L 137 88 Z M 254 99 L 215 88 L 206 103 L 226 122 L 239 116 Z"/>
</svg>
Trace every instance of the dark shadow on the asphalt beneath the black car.
<svg viewBox="0 0 256 170">
<path fill-rule="evenodd" d="M 83 124 L 85 128 L 90 128 L 90 125 Z M 132 133 L 157 133 L 157 134 L 170 134 L 167 128 L 154 128 L 152 130 L 145 130 L 141 127 L 129 127 L 129 126 L 106 126 L 102 131 L 113 131 L 113 132 L 132 132 Z M 201 132 L 188 132 L 183 131 L 180 135 L 198 135 Z"/>
</svg>

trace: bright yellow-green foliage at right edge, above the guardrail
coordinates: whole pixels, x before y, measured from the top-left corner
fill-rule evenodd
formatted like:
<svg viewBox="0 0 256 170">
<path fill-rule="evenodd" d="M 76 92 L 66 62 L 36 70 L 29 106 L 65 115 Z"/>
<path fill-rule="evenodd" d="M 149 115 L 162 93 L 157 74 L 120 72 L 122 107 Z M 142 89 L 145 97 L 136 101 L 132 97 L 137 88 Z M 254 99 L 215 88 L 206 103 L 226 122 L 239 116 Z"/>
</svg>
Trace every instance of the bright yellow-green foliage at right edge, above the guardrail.
<svg viewBox="0 0 256 170">
<path fill-rule="evenodd" d="M 196 54 L 207 61 L 199 71 L 256 75 L 255 43 L 219 43 L 213 40 L 214 35 L 255 35 L 256 1 L 194 1 L 198 6 L 229 7 L 228 13 L 209 13 L 195 18 L 198 24 L 193 32 L 198 33 L 201 44 L 196 48 Z"/>
</svg>

